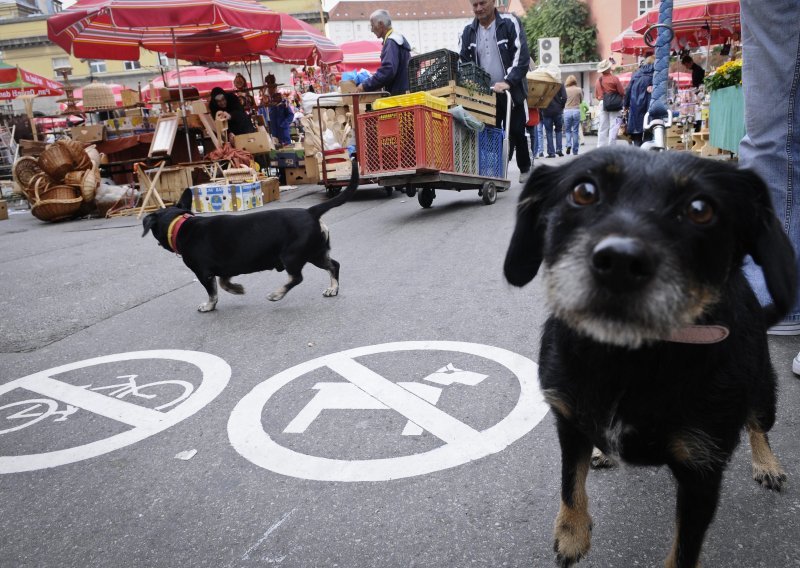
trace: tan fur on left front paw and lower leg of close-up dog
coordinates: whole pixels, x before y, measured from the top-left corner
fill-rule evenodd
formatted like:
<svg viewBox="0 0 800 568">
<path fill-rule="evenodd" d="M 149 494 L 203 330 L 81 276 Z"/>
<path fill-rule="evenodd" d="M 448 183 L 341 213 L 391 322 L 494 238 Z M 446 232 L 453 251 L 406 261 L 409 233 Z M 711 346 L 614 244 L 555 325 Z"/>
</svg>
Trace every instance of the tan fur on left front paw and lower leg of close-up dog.
<svg viewBox="0 0 800 568">
<path fill-rule="evenodd" d="M 589 497 L 586 494 L 586 476 L 589 460 L 578 464 L 573 488 L 573 506 L 564 501 L 558 510 L 555 526 L 557 552 L 576 561 L 589 552 L 592 537 L 592 517 L 589 515 Z"/>
</svg>

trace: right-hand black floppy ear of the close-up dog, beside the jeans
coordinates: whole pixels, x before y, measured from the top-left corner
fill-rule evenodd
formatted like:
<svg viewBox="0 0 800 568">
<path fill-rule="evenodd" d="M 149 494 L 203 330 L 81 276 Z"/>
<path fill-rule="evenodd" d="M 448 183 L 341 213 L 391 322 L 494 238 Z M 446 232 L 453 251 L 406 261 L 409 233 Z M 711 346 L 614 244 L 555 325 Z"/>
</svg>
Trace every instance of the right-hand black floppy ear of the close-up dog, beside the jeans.
<svg viewBox="0 0 800 568">
<path fill-rule="evenodd" d="M 767 320 L 778 321 L 797 299 L 796 253 L 775 215 L 764 181 L 751 170 L 740 170 L 738 174 L 744 185 L 754 191 L 756 201 L 753 231 L 746 252 L 761 266 L 772 297 L 773 305 L 767 307 Z"/>
</svg>

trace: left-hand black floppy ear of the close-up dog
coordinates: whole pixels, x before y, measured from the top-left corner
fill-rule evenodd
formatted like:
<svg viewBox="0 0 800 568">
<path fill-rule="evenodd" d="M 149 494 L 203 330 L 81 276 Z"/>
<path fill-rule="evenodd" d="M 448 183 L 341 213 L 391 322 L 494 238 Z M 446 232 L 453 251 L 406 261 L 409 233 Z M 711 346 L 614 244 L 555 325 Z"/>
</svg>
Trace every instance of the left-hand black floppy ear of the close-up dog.
<svg viewBox="0 0 800 568">
<path fill-rule="evenodd" d="M 542 263 L 547 188 L 555 182 L 558 168 L 539 166 L 534 170 L 519 196 L 517 224 L 506 252 L 503 272 L 514 286 L 524 286 L 533 280 Z"/>
</svg>

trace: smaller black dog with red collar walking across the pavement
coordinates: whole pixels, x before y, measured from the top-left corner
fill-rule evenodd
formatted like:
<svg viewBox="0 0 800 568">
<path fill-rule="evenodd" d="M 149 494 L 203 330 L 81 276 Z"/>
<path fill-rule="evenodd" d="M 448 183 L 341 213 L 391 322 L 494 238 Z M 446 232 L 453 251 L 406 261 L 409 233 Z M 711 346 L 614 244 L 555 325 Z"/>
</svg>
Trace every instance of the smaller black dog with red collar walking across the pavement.
<svg viewBox="0 0 800 568">
<path fill-rule="evenodd" d="M 246 215 L 195 217 L 192 191 L 183 192 L 174 207 L 160 209 L 144 218 L 144 237 L 148 231 L 183 262 L 208 292 L 208 302 L 197 308 L 210 312 L 217 305 L 217 278 L 220 287 L 231 294 L 244 294 L 240 284 L 231 282 L 239 274 L 262 270 L 286 270 L 289 281 L 267 296 L 278 301 L 303 281 L 307 262 L 327 270 L 331 285 L 323 296 L 339 293 L 339 263 L 330 257 L 328 228 L 320 217 L 342 205 L 358 187 L 358 166 L 353 162 L 350 184 L 337 197 L 308 209 L 275 209 Z"/>
</svg>

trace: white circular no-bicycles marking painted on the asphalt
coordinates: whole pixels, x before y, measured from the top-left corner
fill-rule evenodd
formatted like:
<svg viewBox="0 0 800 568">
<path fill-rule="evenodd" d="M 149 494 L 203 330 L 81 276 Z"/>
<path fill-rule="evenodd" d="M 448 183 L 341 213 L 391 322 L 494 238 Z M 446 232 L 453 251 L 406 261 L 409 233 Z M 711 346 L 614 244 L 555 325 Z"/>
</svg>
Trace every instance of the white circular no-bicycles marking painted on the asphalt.
<svg viewBox="0 0 800 568">
<path fill-rule="evenodd" d="M 199 386 L 171 376 L 147 382 L 139 375 L 115 373 L 100 384 L 72 384 L 56 377 L 99 365 L 137 360 L 180 361 L 197 367 Z M 135 370 L 142 365 L 128 365 Z M 115 368 L 119 368 L 116 366 Z M 36 424 L 68 425 L 85 414 L 130 427 L 116 435 L 65 449 L 27 455 L 0 455 L 0 474 L 33 471 L 93 458 L 166 430 L 206 406 L 228 384 L 230 366 L 197 351 L 133 351 L 69 363 L 0 385 L 0 441 Z M 109 384 L 110 383 L 110 384 Z M 4 399 L 4 395 L 8 395 Z M 10 401 L 9 401 L 10 400 Z M 144 406 L 144 404 L 149 406 Z M 64 426 L 58 426 L 59 428 Z M 84 438 L 86 435 L 83 435 Z M 54 446 L 63 441 L 51 440 Z"/>
</svg>

